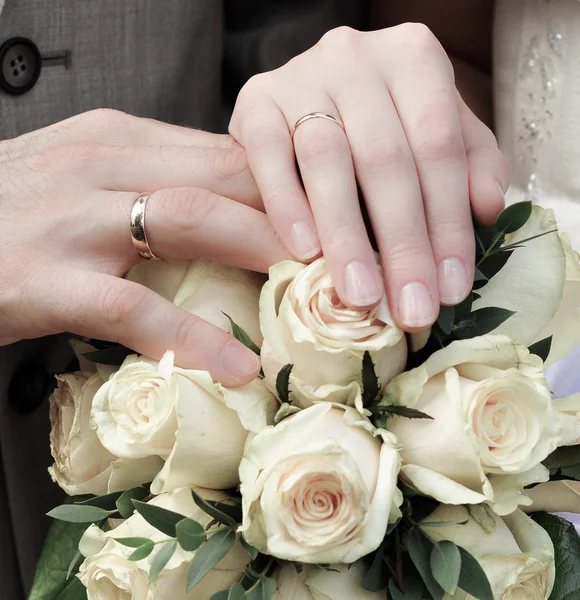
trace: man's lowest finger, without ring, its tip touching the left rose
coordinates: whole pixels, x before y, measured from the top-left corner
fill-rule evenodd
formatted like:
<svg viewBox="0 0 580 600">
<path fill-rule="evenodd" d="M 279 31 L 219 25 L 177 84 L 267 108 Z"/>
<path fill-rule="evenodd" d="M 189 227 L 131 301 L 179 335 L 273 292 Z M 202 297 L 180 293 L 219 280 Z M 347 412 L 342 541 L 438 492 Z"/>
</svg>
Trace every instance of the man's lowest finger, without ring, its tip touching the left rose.
<svg viewBox="0 0 580 600">
<path fill-rule="evenodd" d="M 209 371 L 226 386 L 248 383 L 260 370 L 258 357 L 225 331 L 137 283 L 81 270 L 44 283 L 42 306 L 61 331 L 118 342 L 154 359 L 173 350 L 177 365 Z"/>
</svg>

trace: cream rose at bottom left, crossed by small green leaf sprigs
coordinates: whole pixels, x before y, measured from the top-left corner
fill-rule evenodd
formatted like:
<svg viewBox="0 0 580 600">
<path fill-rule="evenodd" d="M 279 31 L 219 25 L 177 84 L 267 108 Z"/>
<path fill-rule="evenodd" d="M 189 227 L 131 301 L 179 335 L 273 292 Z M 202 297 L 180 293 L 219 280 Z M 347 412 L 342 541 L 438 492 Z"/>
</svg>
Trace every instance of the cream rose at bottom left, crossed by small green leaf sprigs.
<svg viewBox="0 0 580 600">
<path fill-rule="evenodd" d="M 225 497 L 223 493 L 213 490 L 196 491 L 207 500 L 219 501 Z M 211 521 L 211 517 L 194 503 L 190 488 L 157 496 L 151 500 L 151 504 L 194 519 L 204 527 Z M 85 561 L 78 574 L 87 588 L 88 600 L 208 600 L 217 591 L 239 581 L 250 560 L 239 542 L 236 542 L 229 554 L 186 595 L 187 570 L 195 552 L 186 552 L 178 547 L 165 569 L 150 584 L 148 574 L 151 563 L 163 545 L 156 545 L 147 558 L 133 562 L 127 557 L 134 548 L 115 541 L 115 538 L 125 537 L 144 537 L 153 542 L 168 539 L 137 513 L 106 533 L 96 525 L 89 527 L 79 545 Z"/>
</svg>

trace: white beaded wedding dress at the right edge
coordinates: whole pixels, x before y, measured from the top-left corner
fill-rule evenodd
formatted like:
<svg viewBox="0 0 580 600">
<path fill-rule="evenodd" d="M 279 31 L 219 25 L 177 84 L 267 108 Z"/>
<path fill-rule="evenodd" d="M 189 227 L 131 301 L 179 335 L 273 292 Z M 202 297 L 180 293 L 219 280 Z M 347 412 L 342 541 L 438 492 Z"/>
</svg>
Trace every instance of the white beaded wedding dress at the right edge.
<svg viewBox="0 0 580 600">
<path fill-rule="evenodd" d="M 507 201 L 553 208 L 580 250 L 579 0 L 496 0 L 494 95 Z M 556 397 L 580 392 L 579 366 L 580 347 L 548 370 Z"/>
</svg>

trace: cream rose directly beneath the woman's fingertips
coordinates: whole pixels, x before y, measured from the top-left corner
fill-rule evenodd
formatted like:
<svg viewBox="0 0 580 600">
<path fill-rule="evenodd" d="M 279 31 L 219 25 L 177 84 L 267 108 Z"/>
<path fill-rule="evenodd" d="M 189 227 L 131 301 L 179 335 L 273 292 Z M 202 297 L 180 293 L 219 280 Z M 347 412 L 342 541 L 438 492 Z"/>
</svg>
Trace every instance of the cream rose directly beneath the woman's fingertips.
<svg viewBox="0 0 580 600">
<path fill-rule="evenodd" d="M 293 364 L 292 399 L 302 407 L 320 399 L 350 404 L 366 351 L 381 385 L 405 367 L 405 336 L 386 300 L 371 310 L 346 308 L 323 258 L 272 267 L 260 296 L 260 323 L 266 383 L 274 389 L 280 369 Z"/>
</svg>

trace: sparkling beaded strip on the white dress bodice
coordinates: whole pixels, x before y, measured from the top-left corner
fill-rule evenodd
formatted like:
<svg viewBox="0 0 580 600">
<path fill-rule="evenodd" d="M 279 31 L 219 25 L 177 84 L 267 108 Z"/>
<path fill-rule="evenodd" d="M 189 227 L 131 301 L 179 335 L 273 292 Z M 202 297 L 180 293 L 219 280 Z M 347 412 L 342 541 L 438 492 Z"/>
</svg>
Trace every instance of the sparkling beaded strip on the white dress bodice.
<svg viewBox="0 0 580 600">
<path fill-rule="evenodd" d="M 541 182 L 536 171 L 540 148 L 552 138 L 563 39 L 562 30 L 555 23 L 550 24 L 548 31 L 533 35 L 519 73 L 524 99 L 517 144 L 519 160 L 529 173 L 526 200 L 536 201 L 540 193 Z"/>
</svg>

